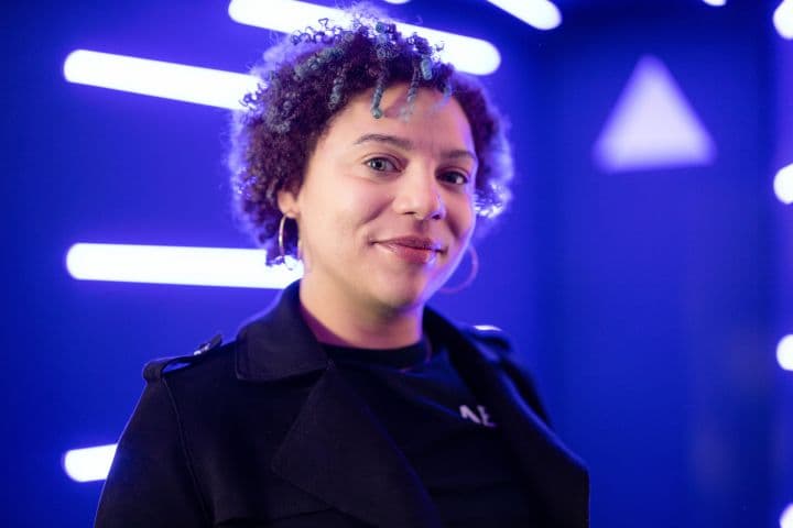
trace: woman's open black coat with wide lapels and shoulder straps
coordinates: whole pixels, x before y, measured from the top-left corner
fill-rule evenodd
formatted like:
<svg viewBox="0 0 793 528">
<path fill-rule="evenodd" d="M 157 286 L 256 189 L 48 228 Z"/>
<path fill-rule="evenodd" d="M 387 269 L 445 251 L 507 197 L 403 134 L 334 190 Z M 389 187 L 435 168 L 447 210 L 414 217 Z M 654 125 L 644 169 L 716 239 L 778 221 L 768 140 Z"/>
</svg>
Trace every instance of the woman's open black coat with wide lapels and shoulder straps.
<svg viewBox="0 0 793 528">
<path fill-rule="evenodd" d="M 588 475 L 546 426 L 529 377 L 495 331 L 431 309 L 424 331 L 499 424 L 543 526 L 588 526 Z M 97 527 L 438 528 L 404 455 L 300 314 L 298 284 L 236 341 L 146 365 Z"/>
</svg>

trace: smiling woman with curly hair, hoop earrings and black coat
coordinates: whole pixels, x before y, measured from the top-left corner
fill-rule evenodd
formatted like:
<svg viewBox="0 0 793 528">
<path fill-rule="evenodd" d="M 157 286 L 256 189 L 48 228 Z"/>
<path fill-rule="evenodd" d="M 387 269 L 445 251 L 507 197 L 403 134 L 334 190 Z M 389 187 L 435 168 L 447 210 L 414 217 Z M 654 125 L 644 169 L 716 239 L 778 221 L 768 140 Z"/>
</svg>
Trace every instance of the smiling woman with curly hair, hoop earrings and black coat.
<svg viewBox="0 0 793 528">
<path fill-rule="evenodd" d="M 304 276 L 235 341 L 146 365 L 97 526 L 587 526 L 507 341 L 425 307 L 511 176 L 481 87 L 435 52 L 360 16 L 269 52 L 235 200 Z"/>
</svg>

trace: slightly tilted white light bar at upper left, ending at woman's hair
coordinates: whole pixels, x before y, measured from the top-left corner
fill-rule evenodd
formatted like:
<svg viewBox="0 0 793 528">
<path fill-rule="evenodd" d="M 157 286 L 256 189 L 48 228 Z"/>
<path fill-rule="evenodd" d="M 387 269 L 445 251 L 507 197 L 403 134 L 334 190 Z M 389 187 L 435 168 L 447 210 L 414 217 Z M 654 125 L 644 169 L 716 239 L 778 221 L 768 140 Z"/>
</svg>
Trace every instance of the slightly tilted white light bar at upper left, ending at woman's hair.
<svg viewBox="0 0 793 528">
<path fill-rule="evenodd" d="M 177 101 L 239 110 L 242 97 L 257 89 L 246 74 L 184 64 L 77 50 L 64 62 L 69 82 Z"/>
</svg>

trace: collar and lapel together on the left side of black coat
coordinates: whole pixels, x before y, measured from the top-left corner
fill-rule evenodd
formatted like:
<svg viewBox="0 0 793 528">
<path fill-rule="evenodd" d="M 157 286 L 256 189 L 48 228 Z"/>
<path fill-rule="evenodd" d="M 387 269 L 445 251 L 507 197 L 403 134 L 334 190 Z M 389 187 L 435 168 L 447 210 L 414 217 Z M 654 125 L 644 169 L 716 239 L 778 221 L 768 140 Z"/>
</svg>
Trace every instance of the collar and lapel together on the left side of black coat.
<svg viewBox="0 0 793 528">
<path fill-rule="evenodd" d="M 300 312 L 298 283 L 239 334 L 237 376 L 276 382 L 318 373 L 272 471 L 339 512 L 384 528 L 439 528 L 404 455 L 345 382 Z"/>
</svg>

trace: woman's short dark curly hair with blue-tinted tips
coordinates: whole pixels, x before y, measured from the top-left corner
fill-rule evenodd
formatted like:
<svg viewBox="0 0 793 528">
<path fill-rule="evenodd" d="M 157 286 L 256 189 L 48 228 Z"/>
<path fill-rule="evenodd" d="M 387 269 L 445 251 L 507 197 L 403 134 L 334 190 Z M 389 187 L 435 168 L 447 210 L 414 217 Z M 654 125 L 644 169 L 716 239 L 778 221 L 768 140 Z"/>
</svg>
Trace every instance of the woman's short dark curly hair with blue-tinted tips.
<svg viewBox="0 0 793 528">
<path fill-rule="evenodd" d="M 279 191 L 300 189 L 318 139 L 352 98 L 373 89 L 372 118 L 382 117 L 380 100 L 392 84 L 409 85 L 405 118 L 420 88 L 457 100 L 479 158 L 477 216 L 489 220 L 504 209 L 511 197 L 512 157 L 503 120 L 480 82 L 441 62 L 439 50 L 416 34 L 403 36 L 391 22 L 358 13 L 349 28 L 321 20 L 317 29 L 293 33 L 252 68 L 261 80 L 257 91 L 243 98 L 245 110 L 233 114 L 227 162 L 235 213 L 265 249 L 269 264 L 280 253 Z M 294 222 L 287 222 L 283 248 L 296 255 Z"/>
</svg>

